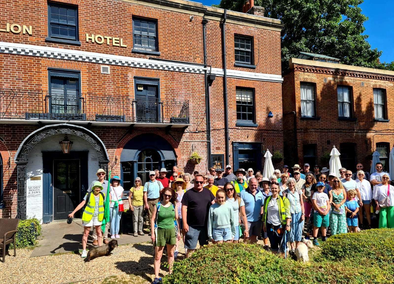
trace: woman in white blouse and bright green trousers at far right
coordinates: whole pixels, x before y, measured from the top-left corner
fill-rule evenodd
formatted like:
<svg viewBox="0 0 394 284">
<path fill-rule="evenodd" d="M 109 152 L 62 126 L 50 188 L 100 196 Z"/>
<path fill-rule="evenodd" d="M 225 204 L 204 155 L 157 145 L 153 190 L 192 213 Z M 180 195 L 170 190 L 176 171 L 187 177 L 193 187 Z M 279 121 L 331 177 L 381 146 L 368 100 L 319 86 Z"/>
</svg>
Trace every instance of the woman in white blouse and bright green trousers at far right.
<svg viewBox="0 0 394 284">
<path fill-rule="evenodd" d="M 382 182 L 374 186 L 376 210 L 379 211 L 379 229 L 394 228 L 394 188 L 390 186 L 387 174 L 382 175 Z M 388 200 L 386 199 L 388 197 Z M 385 203 L 388 206 L 381 207 Z"/>
</svg>

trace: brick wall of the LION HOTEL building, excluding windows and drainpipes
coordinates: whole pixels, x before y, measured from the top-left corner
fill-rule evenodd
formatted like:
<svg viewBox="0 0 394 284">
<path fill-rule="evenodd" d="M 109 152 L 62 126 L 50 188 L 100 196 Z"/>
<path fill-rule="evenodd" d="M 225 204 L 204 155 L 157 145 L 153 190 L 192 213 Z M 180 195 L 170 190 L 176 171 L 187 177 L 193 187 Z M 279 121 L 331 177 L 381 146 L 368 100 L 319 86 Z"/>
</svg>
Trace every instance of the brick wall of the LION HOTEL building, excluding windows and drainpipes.
<svg viewBox="0 0 394 284">
<path fill-rule="evenodd" d="M 56 3 L 78 6 L 78 39 L 80 45 L 46 41 L 48 37 L 48 2 L 0 0 L 0 90 L 39 90 L 35 97 L 27 97 L 18 103 L 9 102 L 9 108 L 0 106 L 0 154 L 3 160 L 4 203 L 1 217 L 17 214 L 17 169 L 14 161 L 20 144 L 33 131 L 45 124 L 20 121 L 15 124 L 4 120 L 2 112 L 42 113 L 48 112 L 45 102 L 50 90 L 48 68 L 80 71 L 81 96 L 86 119 L 83 124 L 104 143 L 110 164 L 119 159 L 123 146 L 140 134 L 151 133 L 163 137 L 174 149 L 180 170 L 193 172 L 208 170 L 207 135 L 205 114 L 203 18 L 206 25 L 206 49 L 208 72 L 216 74 L 210 87 L 211 152 L 225 155 L 223 62 L 221 43 L 221 17 L 223 10 L 206 7 L 195 2 L 174 0 L 168 4 L 159 2 L 110 1 L 110 0 L 56 0 Z M 99 7 L 99 8 L 98 8 Z M 263 150 L 282 151 L 282 87 L 281 51 L 278 20 L 229 11 L 226 22 L 227 89 L 230 136 L 229 163 L 234 164 L 234 142 L 257 143 Z M 192 17 L 191 17 L 192 16 Z M 132 52 L 133 17 L 157 20 L 157 54 Z M 6 31 L 10 25 L 32 26 L 32 35 Z M 4 31 L 2 31 L 4 30 Z M 103 35 L 118 37 L 127 47 L 114 46 L 91 40 L 89 37 Z M 255 69 L 234 66 L 234 34 L 253 37 Z M 14 45 L 13 45 L 14 44 Z M 11 48 L 9 48 L 11 46 Z M 22 48 L 22 51 L 21 51 Z M 57 50 L 60 49 L 60 50 Z M 13 51 L 10 51 L 13 50 Z M 155 59 L 160 59 L 155 60 Z M 167 60 L 167 61 L 166 61 Z M 176 61 L 176 62 L 174 62 Z M 131 62 L 131 63 L 130 63 Z M 163 63 L 161 63 L 163 62 Z M 110 67 L 110 74 L 102 74 L 101 66 Z M 231 71 L 231 72 L 230 72 Z M 216 73 L 215 73 L 216 72 Z M 160 100 L 189 101 L 190 125 L 187 128 L 160 127 L 155 124 L 141 127 L 130 124 L 99 126 L 94 123 L 95 114 L 103 110 L 98 102 L 102 98 L 119 101 L 135 98 L 135 77 L 160 79 Z M 256 79 L 254 79 L 256 77 Z M 256 127 L 236 126 L 236 87 L 251 88 L 255 93 Z M 0 93 L 0 97 L 1 97 Z M 99 98 L 99 99 L 97 99 Z M 1 99 L 0 99 L 1 100 Z M 268 118 L 268 113 L 273 118 Z M 122 103 L 117 113 L 130 113 L 127 103 Z M 10 117 L 7 117 L 9 119 Z M 18 117 L 19 118 L 19 117 Z M 62 121 L 64 122 L 64 121 Z M 80 124 L 82 125 L 82 124 Z M 58 141 L 54 141 L 54 143 Z M 197 151 L 203 159 L 200 164 L 188 162 L 191 152 Z M 263 155 L 262 155 L 263 156 Z M 264 158 L 257 163 L 262 170 Z M 282 163 L 281 163 L 282 164 Z M 275 165 L 280 167 L 281 164 Z M 115 164 L 113 174 L 121 175 L 121 167 Z"/>
</svg>

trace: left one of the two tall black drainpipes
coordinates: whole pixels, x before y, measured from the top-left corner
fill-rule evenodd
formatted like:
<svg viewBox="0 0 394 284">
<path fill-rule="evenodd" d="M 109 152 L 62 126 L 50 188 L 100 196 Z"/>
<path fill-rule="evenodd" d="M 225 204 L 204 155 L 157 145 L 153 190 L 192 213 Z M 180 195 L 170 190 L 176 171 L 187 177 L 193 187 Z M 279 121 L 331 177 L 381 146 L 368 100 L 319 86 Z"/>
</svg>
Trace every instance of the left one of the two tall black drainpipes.
<svg viewBox="0 0 394 284">
<path fill-rule="evenodd" d="M 208 85 L 208 65 L 206 56 L 206 24 L 208 20 L 203 19 L 203 46 L 204 46 L 204 82 L 205 82 L 205 120 L 206 120 L 206 156 L 208 169 L 212 167 L 211 161 L 211 111 L 209 102 L 209 85 Z"/>
</svg>

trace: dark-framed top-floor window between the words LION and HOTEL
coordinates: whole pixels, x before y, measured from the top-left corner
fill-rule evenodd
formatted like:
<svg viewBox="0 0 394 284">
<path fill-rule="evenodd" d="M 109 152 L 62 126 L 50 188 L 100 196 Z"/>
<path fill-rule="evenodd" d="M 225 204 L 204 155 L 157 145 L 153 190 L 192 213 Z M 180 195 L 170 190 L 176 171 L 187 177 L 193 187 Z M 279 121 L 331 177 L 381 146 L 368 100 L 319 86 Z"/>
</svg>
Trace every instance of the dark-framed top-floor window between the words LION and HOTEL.
<svg viewBox="0 0 394 284">
<path fill-rule="evenodd" d="M 48 37 L 45 41 L 81 45 L 78 40 L 78 6 L 48 2 Z"/>
</svg>

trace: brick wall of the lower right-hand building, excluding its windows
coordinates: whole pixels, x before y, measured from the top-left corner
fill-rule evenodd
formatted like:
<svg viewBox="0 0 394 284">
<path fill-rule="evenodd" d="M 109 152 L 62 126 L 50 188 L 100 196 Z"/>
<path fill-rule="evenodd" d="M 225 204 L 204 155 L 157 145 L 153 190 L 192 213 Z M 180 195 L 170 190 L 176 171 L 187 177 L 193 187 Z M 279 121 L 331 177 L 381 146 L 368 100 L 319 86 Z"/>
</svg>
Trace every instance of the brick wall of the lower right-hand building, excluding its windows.
<svg viewBox="0 0 394 284">
<path fill-rule="evenodd" d="M 317 164 L 328 167 L 328 162 L 323 162 L 321 157 L 335 145 L 342 156 L 351 157 L 355 163 L 361 162 L 364 170 L 369 171 L 370 154 L 375 151 L 377 143 L 388 142 L 390 152 L 394 146 L 394 112 L 391 107 L 394 72 L 294 58 L 290 63 L 282 84 L 285 162 L 303 164 L 304 146 L 316 145 Z M 300 84 L 303 82 L 315 86 L 314 119 L 301 118 Z M 347 86 L 351 90 L 353 114 L 349 120 L 338 117 L 338 86 Z M 375 120 L 374 88 L 385 90 L 386 121 Z M 296 114 L 296 126 L 292 112 Z M 354 146 L 355 151 L 348 153 L 346 146 Z M 354 171 L 355 166 L 348 167 Z"/>
</svg>

